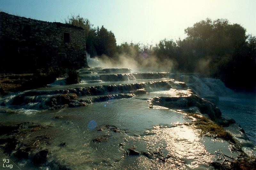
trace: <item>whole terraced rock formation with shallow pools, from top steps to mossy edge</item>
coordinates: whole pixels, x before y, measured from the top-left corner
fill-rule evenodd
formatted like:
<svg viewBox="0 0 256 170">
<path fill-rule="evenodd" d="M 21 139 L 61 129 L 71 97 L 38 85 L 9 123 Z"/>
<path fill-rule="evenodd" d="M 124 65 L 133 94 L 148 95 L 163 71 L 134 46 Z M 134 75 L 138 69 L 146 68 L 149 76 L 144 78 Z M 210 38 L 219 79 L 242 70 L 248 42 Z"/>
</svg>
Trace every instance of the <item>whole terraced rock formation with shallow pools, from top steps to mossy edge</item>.
<svg viewBox="0 0 256 170">
<path fill-rule="evenodd" d="M 0 156 L 28 170 L 232 169 L 237 159 L 254 168 L 255 145 L 205 98 L 218 102 L 213 90 L 229 94 L 220 80 L 191 75 L 185 84 L 169 72 L 100 67 L 79 72 L 79 84 L 61 79 L 0 98 Z M 194 80 L 201 92 L 188 86 L 200 87 Z"/>
</svg>

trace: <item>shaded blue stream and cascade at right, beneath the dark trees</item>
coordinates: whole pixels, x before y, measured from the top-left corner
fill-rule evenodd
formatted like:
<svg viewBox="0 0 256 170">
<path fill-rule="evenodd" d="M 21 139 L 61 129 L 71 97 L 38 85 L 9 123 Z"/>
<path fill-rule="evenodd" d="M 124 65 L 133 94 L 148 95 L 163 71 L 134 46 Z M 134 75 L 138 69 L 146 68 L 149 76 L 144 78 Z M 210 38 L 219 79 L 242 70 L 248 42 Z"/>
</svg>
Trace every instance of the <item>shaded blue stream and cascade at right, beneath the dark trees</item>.
<svg viewBox="0 0 256 170">
<path fill-rule="evenodd" d="M 234 92 L 219 79 L 201 78 L 199 74 L 174 74 L 171 77 L 185 82 L 202 98 L 215 102 L 222 116 L 235 119 L 249 139 L 256 144 L 255 93 Z"/>
</svg>

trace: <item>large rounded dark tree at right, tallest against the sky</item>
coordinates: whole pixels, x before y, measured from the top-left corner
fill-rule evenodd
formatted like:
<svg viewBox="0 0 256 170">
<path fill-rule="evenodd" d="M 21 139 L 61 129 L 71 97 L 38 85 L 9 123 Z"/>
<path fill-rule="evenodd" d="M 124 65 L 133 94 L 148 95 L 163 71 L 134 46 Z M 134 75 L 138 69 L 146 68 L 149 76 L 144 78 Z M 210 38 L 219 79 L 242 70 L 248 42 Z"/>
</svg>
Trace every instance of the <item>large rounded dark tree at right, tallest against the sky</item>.
<svg viewBox="0 0 256 170">
<path fill-rule="evenodd" d="M 244 27 L 227 19 L 207 18 L 185 29 L 185 33 L 188 37 L 180 42 L 181 58 L 192 60 L 194 71 L 220 78 L 232 88 L 255 89 L 255 41 L 252 36 L 248 39 Z M 249 73 L 254 74 L 253 78 L 247 76 Z"/>
</svg>

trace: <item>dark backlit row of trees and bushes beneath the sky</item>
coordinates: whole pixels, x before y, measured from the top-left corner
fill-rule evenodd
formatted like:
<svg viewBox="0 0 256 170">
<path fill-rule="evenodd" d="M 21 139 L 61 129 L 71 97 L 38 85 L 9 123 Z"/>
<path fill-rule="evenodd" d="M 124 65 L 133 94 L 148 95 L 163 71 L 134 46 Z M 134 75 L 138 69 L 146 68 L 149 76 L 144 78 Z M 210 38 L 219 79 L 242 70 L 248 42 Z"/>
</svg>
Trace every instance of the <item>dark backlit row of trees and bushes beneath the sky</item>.
<svg viewBox="0 0 256 170">
<path fill-rule="evenodd" d="M 221 79 L 233 89 L 255 90 L 256 37 L 246 35 L 244 27 L 230 24 L 227 19 L 207 18 L 186 28 L 185 39 L 164 39 L 155 46 L 127 42 L 117 46 L 114 33 L 104 26 L 92 28 L 87 19 L 79 16 L 72 16 L 66 23 L 74 25 L 73 20 L 85 26 L 86 49 L 92 57 L 107 55 L 118 61 L 118 56 L 124 55 L 143 65 L 141 55 L 146 52 L 148 59 L 154 57 L 155 62 L 172 61 L 176 71 L 200 72 L 202 76 Z"/>
</svg>

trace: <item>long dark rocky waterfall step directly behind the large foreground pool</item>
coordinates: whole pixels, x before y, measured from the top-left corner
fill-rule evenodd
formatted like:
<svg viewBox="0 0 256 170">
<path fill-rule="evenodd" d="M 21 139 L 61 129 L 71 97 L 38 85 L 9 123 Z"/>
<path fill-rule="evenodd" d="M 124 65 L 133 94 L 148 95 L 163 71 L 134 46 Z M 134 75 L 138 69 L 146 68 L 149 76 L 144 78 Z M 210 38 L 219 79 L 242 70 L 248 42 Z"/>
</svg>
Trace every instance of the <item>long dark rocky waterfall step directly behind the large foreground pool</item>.
<svg viewBox="0 0 256 170">
<path fill-rule="evenodd" d="M 1 100 L 2 106 L 29 109 L 57 109 L 78 107 L 93 102 L 111 99 L 132 98 L 148 92 L 168 91 L 179 86 L 173 79 L 130 84 L 108 84 L 96 86 L 73 87 L 66 89 L 30 90 L 21 92 L 10 99 Z M 182 85 L 181 85 L 182 87 Z"/>
</svg>

